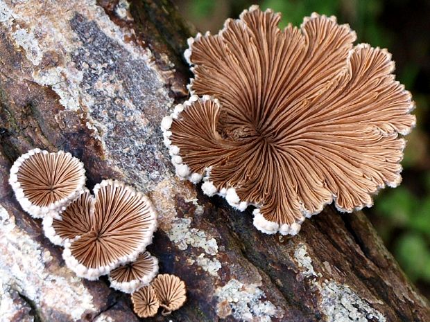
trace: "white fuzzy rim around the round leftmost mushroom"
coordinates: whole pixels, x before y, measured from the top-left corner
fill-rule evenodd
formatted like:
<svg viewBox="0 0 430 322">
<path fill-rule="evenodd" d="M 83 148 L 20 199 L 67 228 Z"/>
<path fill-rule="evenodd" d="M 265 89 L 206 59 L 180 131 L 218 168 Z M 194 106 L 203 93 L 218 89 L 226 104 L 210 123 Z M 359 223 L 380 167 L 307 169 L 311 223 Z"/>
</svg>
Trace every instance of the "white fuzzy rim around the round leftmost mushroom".
<svg viewBox="0 0 430 322">
<path fill-rule="evenodd" d="M 67 195 L 67 197 L 62 198 L 60 200 L 57 200 L 56 202 L 53 202 L 52 204 L 49 204 L 48 206 L 37 206 L 33 204 L 25 195 L 23 188 L 21 188 L 21 184 L 18 180 L 18 172 L 19 168 L 22 166 L 22 164 L 27 160 L 30 159 L 35 154 L 66 154 L 71 158 L 71 161 L 78 165 L 78 175 L 79 175 L 79 181 L 78 186 L 76 189 Z M 22 156 L 19 156 L 19 158 L 13 163 L 12 167 L 10 168 L 10 177 L 9 177 L 9 184 L 12 186 L 12 189 L 15 193 L 15 197 L 17 198 L 17 201 L 22 206 L 24 211 L 26 211 L 28 214 L 30 214 L 34 218 L 43 218 L 44 216 L 51 216 L 51 217 L 58 217 L 58 212 L 61 210 L 61 208 L 65 205 L 67 205 L 69 202 L 74 200 L 80 193 L 83 193 L 83 189 L 85 187 L 85 168 L 82 162 L 79 161 L 79 159 L 72 156 L 69 152 L 65 153 L 63 151 L 58 152 L 48 152 L 46 150 L 40 150 L 40 148 L 36 147 L 33 150 L 28 151 L 26 154 L 22 154 Z"/>
</svg>

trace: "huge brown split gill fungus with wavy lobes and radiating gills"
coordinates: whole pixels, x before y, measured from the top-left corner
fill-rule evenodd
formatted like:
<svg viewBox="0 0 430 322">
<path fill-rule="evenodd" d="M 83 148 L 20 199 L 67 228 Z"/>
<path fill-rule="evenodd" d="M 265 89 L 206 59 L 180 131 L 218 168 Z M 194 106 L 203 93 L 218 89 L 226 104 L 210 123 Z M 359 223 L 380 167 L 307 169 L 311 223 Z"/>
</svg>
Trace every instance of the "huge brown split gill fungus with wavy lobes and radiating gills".
<svg viewBox="0 0 430 322">
<path fill-rule="evenodd" d="M 162 120 L 176 173 L 243 211 L 264 233 L 294 235 L 334 202 L 372 206 L 400 181 L 411 93 L 386 49 L 353 45 L 354 31 L 313 13 L 280 30 L 252 6 L 218 35 L 189 39 L 191 98 Z"/>
</svg>

